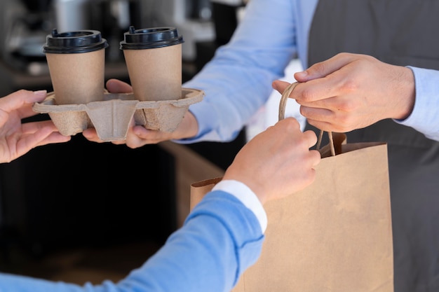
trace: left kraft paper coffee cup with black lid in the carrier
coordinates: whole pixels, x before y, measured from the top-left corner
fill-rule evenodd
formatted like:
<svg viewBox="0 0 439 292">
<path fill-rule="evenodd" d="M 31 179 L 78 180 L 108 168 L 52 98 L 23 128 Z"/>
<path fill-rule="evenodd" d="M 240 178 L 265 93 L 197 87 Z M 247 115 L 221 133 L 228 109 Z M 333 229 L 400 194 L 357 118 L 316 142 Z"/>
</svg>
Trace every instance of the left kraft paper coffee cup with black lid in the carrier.
<svg viewBox="0 0 439 292">
<path fill-rule="evenodd" d="M 58 33 L 46 37 L 43 52 L 56 104 L 87 104 L 104 99 L 105 50 L 108 43 L 96 30 Z"/>
</svg>

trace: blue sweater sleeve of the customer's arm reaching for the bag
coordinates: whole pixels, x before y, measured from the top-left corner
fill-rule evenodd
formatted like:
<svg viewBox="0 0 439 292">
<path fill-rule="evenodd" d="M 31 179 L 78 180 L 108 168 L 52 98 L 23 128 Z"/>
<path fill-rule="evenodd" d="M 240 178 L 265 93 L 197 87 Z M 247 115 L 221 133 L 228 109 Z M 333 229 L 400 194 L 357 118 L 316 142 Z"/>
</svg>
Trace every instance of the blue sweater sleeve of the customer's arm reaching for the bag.
<svg viewBox="0 0 439 292">
<path fill-rule="evenodd" d="M 229 292 L 259 258 L 263 240 L 255 214 L 236 196 L 213 190 L 154 256 L 118 283 L 76 285 L 0 273 L 0 292 Z"/>
</svg>

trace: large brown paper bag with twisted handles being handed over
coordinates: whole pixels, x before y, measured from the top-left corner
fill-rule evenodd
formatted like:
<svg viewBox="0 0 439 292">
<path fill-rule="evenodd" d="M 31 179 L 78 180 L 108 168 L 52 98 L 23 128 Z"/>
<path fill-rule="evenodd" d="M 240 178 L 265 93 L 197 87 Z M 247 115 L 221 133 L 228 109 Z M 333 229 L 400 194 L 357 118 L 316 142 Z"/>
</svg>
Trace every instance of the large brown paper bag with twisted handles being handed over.
<svg viewBox="0 0 439 292">
<path fill-rule="evenodd" d="M 387 146 L 332 141 L 311 186 L 264 205 L 262 254 L 233 292 L 393 292 Z M 191 207 L 220 180 L 193 183 Z"/>
</svg>

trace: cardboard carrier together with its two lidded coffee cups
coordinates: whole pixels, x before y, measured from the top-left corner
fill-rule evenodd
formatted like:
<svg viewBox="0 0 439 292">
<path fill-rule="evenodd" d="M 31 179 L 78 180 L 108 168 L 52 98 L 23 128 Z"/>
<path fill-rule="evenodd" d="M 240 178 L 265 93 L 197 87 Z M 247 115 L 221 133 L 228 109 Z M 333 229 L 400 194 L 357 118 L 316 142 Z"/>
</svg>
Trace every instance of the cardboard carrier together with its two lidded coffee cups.
<svg viewBox="0 0 439 292">
<path fill-rule="evenodd" d="M 53 29 L 43 47 L 53 92 L 34 111 L 48 113 L 66 136 L 95 127 L 103 141 L 123 140 L 133 118 L 147 129 L 173 132 L 189 105 L 204 95 L 182 88 L 182 43 L 173 27 L 130 27 L 120 48 L 133 92 L 113 94 L 104 90 L 108 44 L 100 32 Z"/>
</svg>

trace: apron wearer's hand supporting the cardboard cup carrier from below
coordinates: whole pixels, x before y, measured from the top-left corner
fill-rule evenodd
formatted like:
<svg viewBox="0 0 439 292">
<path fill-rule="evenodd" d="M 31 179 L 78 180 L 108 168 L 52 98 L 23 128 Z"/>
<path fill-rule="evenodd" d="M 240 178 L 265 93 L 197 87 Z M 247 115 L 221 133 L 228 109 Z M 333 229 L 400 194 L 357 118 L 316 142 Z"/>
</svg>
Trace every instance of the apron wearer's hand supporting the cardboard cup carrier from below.
<svg viewBox="0 0 439 292">
<path fill-rule="evenodd" d="M 107 90 L 114 93 L 128 93 L 133 92 L 133 88 L 117 79 L 110 79 L 106 84 Z M 139 148 L 146 144 L 157 144 L 161 141 L 171 139 L 184 139 L 194 137 L 198 132 L 198 123 L 196 118 L 190 111 L 184 115 L 184 118 L 178 125 L 174 132 L 161 132 L 156 130 L 148 130 L 142 125 L 135 125 L 134 120 L 131 120 L 128 126 L 128 132 L 125 140 L 112 141 L 113 144 L 126 144 L 130 148 Z M 89 141 L 102 143 L 101 139 L 97 137 L 97 132 L 93 128 L 83 130 L 83 136 Z"/>
</svg>

